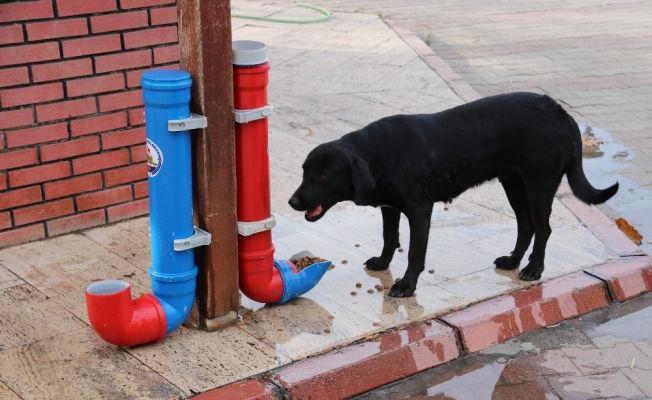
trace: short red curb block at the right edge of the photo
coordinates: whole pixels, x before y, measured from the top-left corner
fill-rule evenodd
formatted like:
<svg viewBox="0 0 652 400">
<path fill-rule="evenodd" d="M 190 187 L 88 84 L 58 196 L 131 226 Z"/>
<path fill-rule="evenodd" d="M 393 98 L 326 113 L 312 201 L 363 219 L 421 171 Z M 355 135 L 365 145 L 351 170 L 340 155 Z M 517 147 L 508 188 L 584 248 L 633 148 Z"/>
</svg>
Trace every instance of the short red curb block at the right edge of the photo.
<svg viewBox="0 0 652 400">
<path fill-rule="evenodd" d="M 614 300 L 623 302 L 652 291 L 652 259 L 650 257 L 621 258 L 586 270 L 607 282 Z"/>
</svg>

